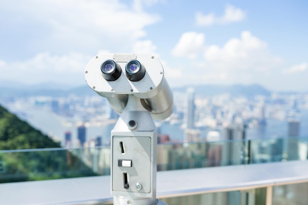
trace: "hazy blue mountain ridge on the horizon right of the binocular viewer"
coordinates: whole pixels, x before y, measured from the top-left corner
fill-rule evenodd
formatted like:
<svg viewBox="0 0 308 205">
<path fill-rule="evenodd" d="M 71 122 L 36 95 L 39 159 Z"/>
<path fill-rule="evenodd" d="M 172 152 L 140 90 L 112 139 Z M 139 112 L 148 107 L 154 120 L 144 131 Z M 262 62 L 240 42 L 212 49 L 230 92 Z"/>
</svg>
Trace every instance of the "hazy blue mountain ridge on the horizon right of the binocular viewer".
<svg viewBox="0 0 308 205">
<path fill-rule="evenodd" d="M 189 86 L 188 86 L 189 87 Z M 185 92 L 187 86 L 181 88 L 174 88 L 174 91 Z M 195 92 L 199 96 L 213 96 L 217 94 L 229 93 L 232 96 L 247 96 L 251 97 L 254 95 L 271 95 L 271 91 L 263 88 L 260 85 L 233 85 L 233 86 L 219 86 L 219 85 L 200 85 L 190 86 L 195 89 Z"/>
</svg>

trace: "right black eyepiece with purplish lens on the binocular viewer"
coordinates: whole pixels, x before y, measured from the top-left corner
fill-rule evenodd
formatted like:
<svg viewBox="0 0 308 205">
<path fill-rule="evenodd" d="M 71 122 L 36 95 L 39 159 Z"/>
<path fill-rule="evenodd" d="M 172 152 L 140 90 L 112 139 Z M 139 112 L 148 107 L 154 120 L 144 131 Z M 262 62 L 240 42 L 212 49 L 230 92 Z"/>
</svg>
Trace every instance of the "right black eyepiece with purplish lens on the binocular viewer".
<svg viewBox="0 0 308 205">
<path fill-rule="evenodd" d="M 146 74 L 146 69 L 138 60 L 130 60 L 125 66 L 126 77 L 130 81 L 140 81 Z"/>
</svg>

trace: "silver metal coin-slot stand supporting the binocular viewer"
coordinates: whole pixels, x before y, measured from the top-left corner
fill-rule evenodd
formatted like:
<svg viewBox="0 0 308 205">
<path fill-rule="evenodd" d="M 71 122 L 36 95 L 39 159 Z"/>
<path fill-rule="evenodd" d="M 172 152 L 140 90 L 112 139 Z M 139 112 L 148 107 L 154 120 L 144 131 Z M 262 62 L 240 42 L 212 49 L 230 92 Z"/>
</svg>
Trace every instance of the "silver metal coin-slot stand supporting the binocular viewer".
<svg viewBox="0 0 308 205">
<path fill-rule="evenodd" d="M 141 99 L 128 102 L 111 131 L 114 205 L 166 205 L 156 199 L 157 131 Z"/>
</svg>

